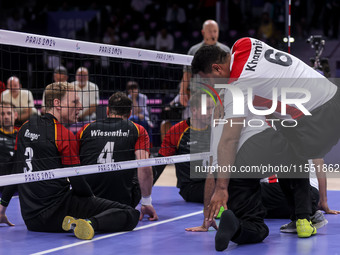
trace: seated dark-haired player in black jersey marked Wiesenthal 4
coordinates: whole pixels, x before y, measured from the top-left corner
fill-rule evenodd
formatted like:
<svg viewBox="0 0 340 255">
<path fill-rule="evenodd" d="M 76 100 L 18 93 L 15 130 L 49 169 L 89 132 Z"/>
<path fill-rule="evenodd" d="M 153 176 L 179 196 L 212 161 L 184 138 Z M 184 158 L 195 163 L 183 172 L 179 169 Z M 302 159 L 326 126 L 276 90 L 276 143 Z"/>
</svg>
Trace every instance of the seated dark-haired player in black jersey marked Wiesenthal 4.
<svg viewBox="0 0 340 255">
<path fill-rule="evenodd" d="M 128 120 L 131 108 L 131 99 L 116 92 L 109 99 L 107 119 L 94 121 L 79 130 L 77 140 L 82 165 L 149 158 L 149 135 L 143 126 Z M 140 219 L 144 214 L 150 215 L 149 220 L 158 219 L 151 203 L 150 166 L 87 175 L 86 180 L 96 196 L 132 207 L 141 201 Z"/>
</svg>

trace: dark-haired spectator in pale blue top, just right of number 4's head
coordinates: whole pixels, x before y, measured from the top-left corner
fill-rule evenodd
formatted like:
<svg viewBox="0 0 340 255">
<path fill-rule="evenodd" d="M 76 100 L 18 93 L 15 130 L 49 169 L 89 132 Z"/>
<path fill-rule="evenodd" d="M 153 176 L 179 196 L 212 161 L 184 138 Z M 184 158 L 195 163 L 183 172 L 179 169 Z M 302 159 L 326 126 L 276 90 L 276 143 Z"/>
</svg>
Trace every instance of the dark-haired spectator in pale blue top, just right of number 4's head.
<svg viewBox="0 0 340 255">
<path fill-rule="evenodd" d="M 150 121 L 149 111 L 147 108 L 148 97 L 139 92 L 138 83 L 129 81 L 126 84 L 126 92 L 128 97 L 132 100 L 132 113 L 129 120 L 136 122 L 143 126 L 151 136 L 151 129 L 153 127 Z"/>
</svg>

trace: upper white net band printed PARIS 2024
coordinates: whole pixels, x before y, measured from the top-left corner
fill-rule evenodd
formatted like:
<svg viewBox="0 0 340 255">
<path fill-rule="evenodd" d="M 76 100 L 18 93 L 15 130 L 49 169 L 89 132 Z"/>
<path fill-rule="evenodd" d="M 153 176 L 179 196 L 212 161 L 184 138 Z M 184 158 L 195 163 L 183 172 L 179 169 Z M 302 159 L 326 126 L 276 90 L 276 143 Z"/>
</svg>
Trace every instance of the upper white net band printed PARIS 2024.
<svg viewBox="0 0 340 255">
<path fill-rule="evenodd" d="M 193 56 L 183 54 L 70 40 L 2 29 L 0 29 L 0 44 L 179 65 L 191 65 L 193 59 Z"/>
</svg>

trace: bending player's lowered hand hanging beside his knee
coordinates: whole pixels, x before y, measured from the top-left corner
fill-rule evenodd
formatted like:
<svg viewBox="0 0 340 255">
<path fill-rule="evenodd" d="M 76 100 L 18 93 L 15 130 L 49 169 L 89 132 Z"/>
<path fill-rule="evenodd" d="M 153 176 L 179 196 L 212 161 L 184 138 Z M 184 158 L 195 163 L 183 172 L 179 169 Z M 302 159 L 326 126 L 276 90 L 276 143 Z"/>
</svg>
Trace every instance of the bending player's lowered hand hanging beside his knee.
<svg viewBox="0 0 340 255">
<path fill-rule="evenodd" d="M 205 218 L 205 220 L 213 221 L 220 212 L 221 206 L 224 207 L 224 210 L 228 210 L 228 198 L 229 194 L 226 189 L 215 189 L 208 206 L 208 218 Z"/>
</svg>

